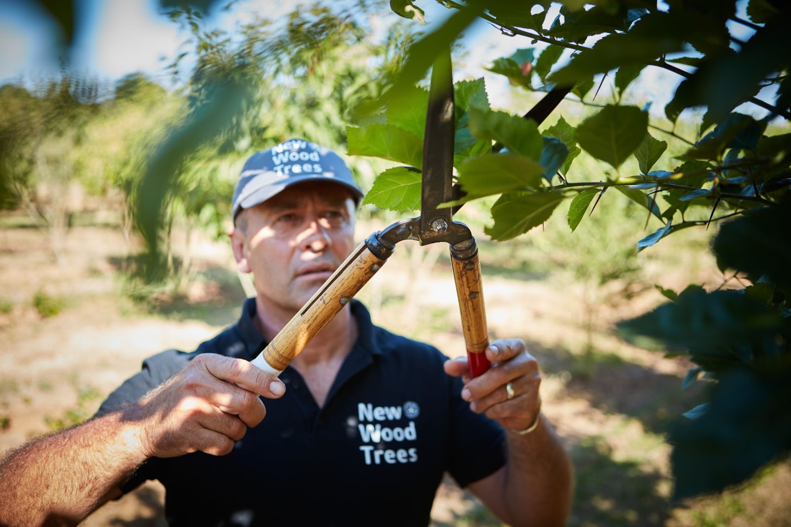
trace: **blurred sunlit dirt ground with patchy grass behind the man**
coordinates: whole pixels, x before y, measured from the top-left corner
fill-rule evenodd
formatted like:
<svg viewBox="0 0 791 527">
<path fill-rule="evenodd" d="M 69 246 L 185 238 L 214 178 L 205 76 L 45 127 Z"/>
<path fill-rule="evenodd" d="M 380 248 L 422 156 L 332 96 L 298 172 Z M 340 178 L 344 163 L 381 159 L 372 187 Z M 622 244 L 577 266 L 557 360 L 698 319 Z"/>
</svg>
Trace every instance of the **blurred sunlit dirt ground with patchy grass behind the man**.
<svg viewBox="0 0 791 527">
<path fill-rule="evenodd" d="M 71 229 L 57 264 L 46 233 L 17 223 L 0 228 L 0 457 L 88 418 L 143 358 L 168 347 L 190 350 L 239 313 L 244 291 L 224 243 L 197 245 L 196 274 L 184 295 L 149 311 L 123 294 L 119 266 L 137 248 L 117 229 Z M 428 269 L 416 261 L 411 249 L 396 252 L 359 298 L 379 324 L 458 354 L 464 341 L 449 267 L 442 259 Z M 679 390 L 683 360 L 626 346 L 607 330 L 655 305 L 658 294 L 602 306 L 596 352 L 583 358 L 579 286 L 507 273 L 484 280 L 492 335 L 525 339 L 542 366 L 544 412 L 577 472 L 569 525 L 791 525 L 783 491 L 791 485 L 788 464 L 723 497 L 669 502 L 664 433 L 700 391 Z M 414 289 L 404 288 L 410 282 Z M 62 302 L 58 313 L 43 317 L 37 295 L 39 303 Z M 416 312 L 421 317 L 409 314 Z M 163 495 L 158 483 L 148 483 L 84 525 L 164 525 Z M 433 518 L 434 525 L 499 525 L 450 481 L 438 492 Z"/>
</svg>

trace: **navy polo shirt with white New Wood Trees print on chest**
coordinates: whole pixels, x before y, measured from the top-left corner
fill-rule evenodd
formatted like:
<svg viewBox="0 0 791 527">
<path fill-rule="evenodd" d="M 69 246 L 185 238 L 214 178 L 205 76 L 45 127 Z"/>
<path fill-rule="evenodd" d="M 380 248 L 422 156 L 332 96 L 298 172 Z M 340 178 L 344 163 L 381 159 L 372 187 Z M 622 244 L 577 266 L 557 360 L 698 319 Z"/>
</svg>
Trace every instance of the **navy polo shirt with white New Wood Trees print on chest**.
<svg viewBox="0 0 791 527">
<path fill-rule="evenodd" d="M 447 358 L 378 328 L 358 301 L 359 336 L 323 408 L 289 367 L 286 393 L 226 456 L 196 452 L 146 461 L 123 491 L 165 486 L 171 525 L 427 525 L 444 472 L 465 487 L 505 464 L 497 423 L 471 412 Z M 138 400 L 200 353 L 252 359 L 266 345 L 244 303 L 236 325 L 192 353 L 143 362 L 97 415 Z"/>
</svg>

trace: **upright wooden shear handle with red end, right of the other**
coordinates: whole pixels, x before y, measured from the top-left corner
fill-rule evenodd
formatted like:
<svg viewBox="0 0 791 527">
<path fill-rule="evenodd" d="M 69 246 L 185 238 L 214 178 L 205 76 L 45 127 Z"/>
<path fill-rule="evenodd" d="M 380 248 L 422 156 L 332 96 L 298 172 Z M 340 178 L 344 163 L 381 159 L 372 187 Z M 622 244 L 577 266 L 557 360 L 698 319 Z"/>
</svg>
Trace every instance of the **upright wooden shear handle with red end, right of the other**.
<svg viewBox="0 0 791 527">
<path fill-rule="evenodd" d="M 489 347 L 489 334 L 486 330 L 486 309 L 483 305 L 483 286 L 481 285 L 481 264 L 478 253 L 467 260 L 456 260 L 451 252 L 453 278 L 456 279 L 456 294 L 459 297 L 461 326 L 464 343 L 467 345 L 467 358 L 470 377 L 478 377 L 489 370 L 486 358 Z"/>
</svg>

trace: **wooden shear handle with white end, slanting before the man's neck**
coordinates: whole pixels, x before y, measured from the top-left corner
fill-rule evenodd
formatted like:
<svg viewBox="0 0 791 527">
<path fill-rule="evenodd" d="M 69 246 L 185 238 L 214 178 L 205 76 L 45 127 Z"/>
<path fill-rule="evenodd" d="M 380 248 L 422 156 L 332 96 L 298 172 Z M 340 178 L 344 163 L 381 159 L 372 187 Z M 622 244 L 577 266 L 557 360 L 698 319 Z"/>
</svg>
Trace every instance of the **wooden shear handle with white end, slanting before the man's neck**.
<svg viewBox="0 0 791 527">
<path fill-rule="evenodd" d="M 362 242 L 252 363 L 279 375 L 384 264 Z"/>
</svg>

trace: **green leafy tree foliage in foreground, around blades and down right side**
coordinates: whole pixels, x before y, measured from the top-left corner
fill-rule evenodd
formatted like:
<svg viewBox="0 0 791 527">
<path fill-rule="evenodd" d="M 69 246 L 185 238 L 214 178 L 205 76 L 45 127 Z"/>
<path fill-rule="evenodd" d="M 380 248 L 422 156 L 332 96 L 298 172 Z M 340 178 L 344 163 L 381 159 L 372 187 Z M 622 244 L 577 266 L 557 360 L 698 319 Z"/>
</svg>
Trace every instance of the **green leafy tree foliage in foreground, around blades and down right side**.
<svg viewBox="0 0 791 527">
<path fill-rule="evenodd" d="M 719 0 L 674 0 L 659 7 L 631 0 L 585 7 L 570 0 L 441 3 L 457 13 L 415 43 L 404 67 L 406 80 L 362 108 L 377 116 L 377 124 L 350 131 L 350 153 L 408 165 L 380 176 L 366 200 L 396 209 L 419 203 L 416 174 L 422 160 L 415 159 L 415 151 L 420 136 L 409 123 L 425 116 L 414 108 L 426 108 L 426 97 L 399 83 L 414 83 L 425 74 L 440 51 L 426 43 L 452 42 L 466 27 L 461 21 L 467 23 L 474 15 L 532 44 L 547 44 L 495 59 L 490 70 L 509 78 L 515 89 L 549 92 L 566 87 L 573 99 L 598 108 L 577 127 L 561 117 L 539 131 L 519 116 L 491 111 L 483 102 L 483 81 L 476 81 L 482 94 L 477 104 L 460 97 L 462 85 L 457 83 L 454 166 L 456 182 L 466 195 L 446 205 L 498 195 L 486 233 L 507 240 L 541 225 L 566 199 L 569 226 L 576 229 L 593 200 L 597 203 L 615 188 L 662 223 L 636 241 L 638 251 L 679 230 L 729 220 L 713 243 L 717 264 L 749 285 L 743 290 L 706 292 L 692 286 L 681 294 L 666 291 L 670 304 L 624 321 L 619 331 L 634 343 L 687 354 L 695 367 L 685 384 L 698 376 L 717 381 L 710 404 L 689 414 L 691 419 L 670 435 L 677 498 L 720 491 L 787 455 L 787 2 L 750 0 L 748 20 L 737 14 L 739 4 Z M 679 76 L 664 115 L 652 114 L 648 105 L 630 104 L 624 96 L 645 68 Z M 609 77 L 614 79 L 614 100 L 592 104 L 592 87 Z M 412 108 L 409 123 L 395 116 L 393 107 Z M 678 126 L 682 113 L 684 120 L 695 123 L 696 136 L 684 137 Z M 494 142 L 505 148 L 493 148 Z M 611 171 L 575 173 L 572 161 L 581 150 Z M 670 157 L 668 150 L 678 154 Z M 628 172 L 632 166 L 638 171 Z"/>
</svg>

